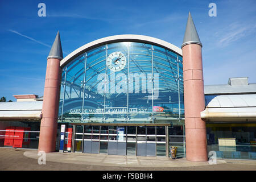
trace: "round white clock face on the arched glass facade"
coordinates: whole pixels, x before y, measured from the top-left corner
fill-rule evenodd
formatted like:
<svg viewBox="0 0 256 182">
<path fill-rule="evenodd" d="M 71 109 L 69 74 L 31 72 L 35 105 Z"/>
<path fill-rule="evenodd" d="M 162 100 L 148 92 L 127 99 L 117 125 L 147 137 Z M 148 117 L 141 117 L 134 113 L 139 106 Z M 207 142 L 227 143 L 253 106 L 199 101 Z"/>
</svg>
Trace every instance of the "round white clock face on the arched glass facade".
<svg viewBox="0 0 256 182">
<path fill-rule="evenodd" d="M 122 52 L 113 52 L 108 56 L 106 64 L 108 68 L 114 72 L 121 71 L 125 68 L 126 57 Z"/>
</svg>

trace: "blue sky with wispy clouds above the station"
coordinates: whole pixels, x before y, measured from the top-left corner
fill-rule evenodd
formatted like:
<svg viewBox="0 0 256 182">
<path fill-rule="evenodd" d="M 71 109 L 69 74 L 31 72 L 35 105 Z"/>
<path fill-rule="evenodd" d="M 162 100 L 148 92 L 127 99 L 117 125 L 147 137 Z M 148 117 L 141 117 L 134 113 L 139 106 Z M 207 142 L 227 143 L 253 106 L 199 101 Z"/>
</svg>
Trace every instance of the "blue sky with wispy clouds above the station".
<svg viewBox="0 0 256 182">
<path fill-rule="evenodd" d="M 38 4 L 46 4 L 46 17 Z M 209 3 L 217 16 L 210 17 Z M 0 1 L 0 96 L 43 96 L 47 56 L 60 31 L 63 55 L 119 34 L 159 38 L 180 47 L 191 11 L 203 43 L 204 84 L 229 77 L 256 82 L 256 1 Z"/>
</svg>

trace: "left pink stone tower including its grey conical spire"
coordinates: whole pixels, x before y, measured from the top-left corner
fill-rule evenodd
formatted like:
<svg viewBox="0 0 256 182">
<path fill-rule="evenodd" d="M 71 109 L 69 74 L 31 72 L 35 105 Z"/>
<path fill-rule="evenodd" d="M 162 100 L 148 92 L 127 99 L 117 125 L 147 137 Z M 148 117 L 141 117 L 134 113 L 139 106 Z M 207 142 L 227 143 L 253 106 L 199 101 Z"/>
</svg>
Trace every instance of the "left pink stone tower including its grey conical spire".
<svg viewBox="0 0 256 182">
<path fill-rule="evenodd" d="M 58 31 L 47 57 L 38 151 L 55 152 L 61 82 L 60 61 L 62 59 L 63 53 Z"/>
</svg>

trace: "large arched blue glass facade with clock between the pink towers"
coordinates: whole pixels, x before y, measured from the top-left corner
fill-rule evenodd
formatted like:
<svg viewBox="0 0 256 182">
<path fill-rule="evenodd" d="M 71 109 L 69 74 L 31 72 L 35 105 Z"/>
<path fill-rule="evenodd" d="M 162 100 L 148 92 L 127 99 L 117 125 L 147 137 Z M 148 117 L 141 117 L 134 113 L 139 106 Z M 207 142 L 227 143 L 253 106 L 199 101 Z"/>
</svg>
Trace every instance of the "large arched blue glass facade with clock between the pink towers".
<svg viewBox="0 0 256 182">
<path fill-rule="evenodd" d="M 59 122 L 166 123 L 184 118 L 182 57 L 146 43 L 91 49 L 63 68 Z"/>
</svg>

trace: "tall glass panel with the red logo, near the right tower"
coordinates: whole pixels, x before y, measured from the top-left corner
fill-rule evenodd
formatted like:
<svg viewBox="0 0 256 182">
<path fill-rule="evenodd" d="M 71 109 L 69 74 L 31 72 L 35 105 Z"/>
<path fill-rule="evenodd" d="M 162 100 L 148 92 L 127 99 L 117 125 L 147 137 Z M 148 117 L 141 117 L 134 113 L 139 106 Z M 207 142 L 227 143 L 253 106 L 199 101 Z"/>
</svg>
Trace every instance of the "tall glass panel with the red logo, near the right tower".
<svg viewBox="0 0 256 182">
<path fill-rule="evenodd" d="M 154 117 L 179 118 L 177 55 L 154 46 Z M 179 73 L 182 75 L 182 72 Z M 159 89 L 160 88 L 160 89 Z"/>
</svg>

